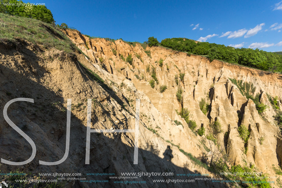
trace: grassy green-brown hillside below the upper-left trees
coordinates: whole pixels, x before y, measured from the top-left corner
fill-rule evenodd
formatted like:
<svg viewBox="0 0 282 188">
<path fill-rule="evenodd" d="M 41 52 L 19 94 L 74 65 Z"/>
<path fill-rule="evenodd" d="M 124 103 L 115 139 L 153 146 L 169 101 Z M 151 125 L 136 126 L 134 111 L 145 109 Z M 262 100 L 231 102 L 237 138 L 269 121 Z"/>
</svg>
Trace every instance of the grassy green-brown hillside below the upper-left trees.
<svg viewBox="0 0 282 188">
<path fill-rule="evenodd" d="M 77 49 L 65 34 L 52 24 L 36 19 L 0 13 L 0 39 L 14 41 L 23 38 L 34 44 L 54 47 L 66 53 Z"/>
</svg>

